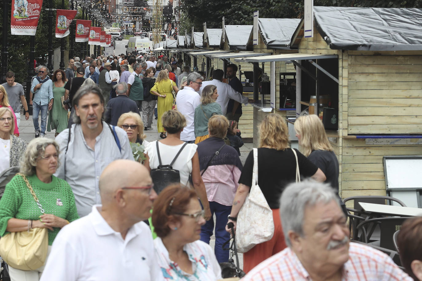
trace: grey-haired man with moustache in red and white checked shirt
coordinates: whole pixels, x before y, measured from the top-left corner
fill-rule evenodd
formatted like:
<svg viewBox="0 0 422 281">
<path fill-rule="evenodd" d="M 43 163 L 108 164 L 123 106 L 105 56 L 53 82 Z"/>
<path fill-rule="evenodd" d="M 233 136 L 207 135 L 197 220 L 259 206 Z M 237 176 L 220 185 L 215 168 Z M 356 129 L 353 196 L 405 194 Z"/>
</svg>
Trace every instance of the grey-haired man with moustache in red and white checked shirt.
<svg viewBox="0 0 422 281">
<path fill-rule="evenodd" d="M 288 247 L 242 281 L 412 280 L 386 254 L 349 241 L 346 217 L 328 185 L 289 185 L 281 195 L 280 217 Z"/>
</svg>

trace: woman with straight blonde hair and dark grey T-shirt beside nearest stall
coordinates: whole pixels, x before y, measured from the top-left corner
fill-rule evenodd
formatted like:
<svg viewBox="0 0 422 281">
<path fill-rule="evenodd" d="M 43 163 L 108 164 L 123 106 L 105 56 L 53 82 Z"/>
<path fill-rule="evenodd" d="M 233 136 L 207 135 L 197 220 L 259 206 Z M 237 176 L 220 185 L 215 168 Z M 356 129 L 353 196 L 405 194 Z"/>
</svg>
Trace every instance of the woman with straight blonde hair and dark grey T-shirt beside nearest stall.
<svg viewBox="0 0 422 281">
<path fill-rule="evenodd" d="M 338 194 L 338 160 L 321 119 L 315 114 L 300 116 L 295 121 L 295 131 L 303 155 L 322 170 L 327 177 L 325 182 Z"/>
</svg>

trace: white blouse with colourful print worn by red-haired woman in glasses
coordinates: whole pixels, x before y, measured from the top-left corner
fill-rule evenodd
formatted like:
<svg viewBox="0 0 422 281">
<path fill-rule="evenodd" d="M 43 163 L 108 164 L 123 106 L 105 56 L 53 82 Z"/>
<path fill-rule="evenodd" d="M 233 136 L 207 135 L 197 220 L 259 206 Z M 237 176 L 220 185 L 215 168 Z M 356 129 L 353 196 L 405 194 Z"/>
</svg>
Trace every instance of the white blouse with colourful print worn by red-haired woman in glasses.
<svg viewBox="0 0 422 281">
<path fill-rule="evenodd" d="M 176 262 L 170 260 L 168 251 L 160 237 L 154 239 L 158 265 L 164 280 L 172 281 L 216 281 L 221 279 L 221 268 L 210 245 L 197 240 L 183 246 L 192 262 L 193 274 L 181 270 Z"/>
</svg>

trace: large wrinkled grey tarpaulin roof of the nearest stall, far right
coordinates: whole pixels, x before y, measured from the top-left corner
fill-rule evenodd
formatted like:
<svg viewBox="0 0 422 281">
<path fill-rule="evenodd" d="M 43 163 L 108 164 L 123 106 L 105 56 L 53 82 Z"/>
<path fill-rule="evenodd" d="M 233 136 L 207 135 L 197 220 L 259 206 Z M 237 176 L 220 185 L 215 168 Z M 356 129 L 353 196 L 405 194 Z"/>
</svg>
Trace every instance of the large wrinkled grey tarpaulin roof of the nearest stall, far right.
<svg viewBox="0 0 422 281">
<path fill-rule="evenodd" d="M 422 50 L 422 9 L 316 6 L 314 17 L 331 49 Z"/>
</svg>

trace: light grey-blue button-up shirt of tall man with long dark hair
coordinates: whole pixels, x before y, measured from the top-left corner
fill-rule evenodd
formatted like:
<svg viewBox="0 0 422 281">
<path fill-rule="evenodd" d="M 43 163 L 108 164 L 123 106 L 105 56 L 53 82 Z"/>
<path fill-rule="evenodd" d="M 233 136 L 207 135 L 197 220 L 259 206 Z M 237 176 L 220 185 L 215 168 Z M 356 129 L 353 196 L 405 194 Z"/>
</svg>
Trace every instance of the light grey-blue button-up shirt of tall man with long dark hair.
<svg viewBox="0 0 422 281">
<path fill-rule="evenodd" d="M 116 127 L 122 148 L 122 152 L 119 151 L 114 134 L 104 121 L 103 131 L 95 139 L 94 150 L 87 145 L 81 125 L 72 125 L 69 144 L 68 134 L 69 129 L 65 129 L 56 137 L 60 147 L 61 165 L 54 175 L 64 179 L 72 187 L 79 217 L 84 217 L 91 212 L 93 205 L 101 204 L 98 180 L 103 170 L 114 160 L 133 160 L 133 153 L 126 132 Z"/>
</svg>

